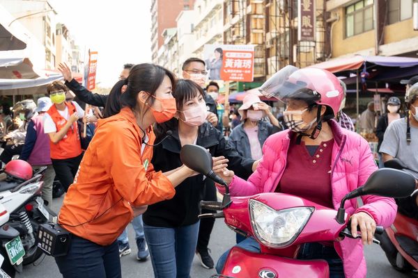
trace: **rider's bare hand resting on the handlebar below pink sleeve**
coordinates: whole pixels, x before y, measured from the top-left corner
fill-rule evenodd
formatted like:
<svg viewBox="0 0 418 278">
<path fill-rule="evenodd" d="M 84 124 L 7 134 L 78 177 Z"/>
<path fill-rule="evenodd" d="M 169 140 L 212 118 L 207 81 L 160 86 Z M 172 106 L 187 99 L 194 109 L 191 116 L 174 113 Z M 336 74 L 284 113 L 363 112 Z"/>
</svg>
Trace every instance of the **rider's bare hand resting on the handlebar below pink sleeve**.
<svg viewBox="0 0 418 278">
<path fill-rule="evenodd" d="M 373 243 L 373 234 L 376 230 L 376 221 L 367 213 L 359 212 L 351 215 L 351 234 L 357 237 L 357 226 L 362 233 L 363 245 Z"/>
</svg>

